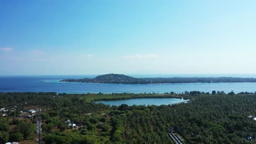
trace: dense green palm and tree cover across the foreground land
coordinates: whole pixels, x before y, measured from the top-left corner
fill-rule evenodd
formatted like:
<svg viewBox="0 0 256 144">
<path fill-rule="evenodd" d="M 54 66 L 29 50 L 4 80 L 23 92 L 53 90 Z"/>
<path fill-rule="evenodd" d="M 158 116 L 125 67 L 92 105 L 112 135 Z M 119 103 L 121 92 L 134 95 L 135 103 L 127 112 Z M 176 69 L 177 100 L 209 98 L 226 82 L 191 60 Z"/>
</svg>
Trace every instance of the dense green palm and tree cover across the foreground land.
<svg viewBox="0 0 256 144">
<path fill-rule="evenodd" d="M 186 97 L 190 102 L 161 106 L 109 106 L 92 102 L 136 97 Z M 253 93 L 0 93 L 0 107 L 11 110 L 14 106 L 16 111 L 0 117 L 0 143 L 35 139 L 36 116 L 17 117 L 21 110 L 36 107 L 43 111 L 44 143 L 173 143 L 167 135 L 168 128 L 177 131 L 186 143 L 255 143 L 256 139 L 256 121 L 248 118 L 256 116 Z M 67 120 L 79 127 L 69 129 Z"/>
</svg>

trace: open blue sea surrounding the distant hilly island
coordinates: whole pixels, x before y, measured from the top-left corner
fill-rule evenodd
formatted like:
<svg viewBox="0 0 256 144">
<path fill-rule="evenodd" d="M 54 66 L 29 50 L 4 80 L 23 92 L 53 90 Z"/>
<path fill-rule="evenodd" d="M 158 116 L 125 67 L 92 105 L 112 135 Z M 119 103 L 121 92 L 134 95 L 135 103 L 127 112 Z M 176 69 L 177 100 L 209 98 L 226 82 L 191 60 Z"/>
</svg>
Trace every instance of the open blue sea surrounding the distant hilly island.
<svg viewBox="0 0 256 144">
<path fill-rule="evenodd" d="M 0 92 L 57 93 L 182 93 L 185 91 L 255 92 L 256 83 L 170 83 L 124 85 L 107 83 L 59 82 L 63 79 L 93 78 L 97 75 L 0 76 Z M 133 77 L 256 77 L 256 75 L 129 75 Z"/>
</svg>

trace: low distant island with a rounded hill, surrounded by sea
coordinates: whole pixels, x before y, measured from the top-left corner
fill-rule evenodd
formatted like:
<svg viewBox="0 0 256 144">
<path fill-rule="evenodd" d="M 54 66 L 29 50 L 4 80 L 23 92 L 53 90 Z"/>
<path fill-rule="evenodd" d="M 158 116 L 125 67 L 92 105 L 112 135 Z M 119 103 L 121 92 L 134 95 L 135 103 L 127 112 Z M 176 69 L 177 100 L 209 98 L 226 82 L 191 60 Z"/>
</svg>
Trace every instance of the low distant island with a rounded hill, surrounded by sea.
<svg viewBox="0 0 256 144">
<path fill-rule="evenodd" d="M 135 78 L 123 74 L 99 75 L 95 78 L 65 79 L 60 82 L 86 83 L 123 83 L 123 84 L 150 84 L 150 83 L 219 83 L 219 82 L 256 82 L 255 78 L 243 77 L 146 77 Z"/>
</svg>

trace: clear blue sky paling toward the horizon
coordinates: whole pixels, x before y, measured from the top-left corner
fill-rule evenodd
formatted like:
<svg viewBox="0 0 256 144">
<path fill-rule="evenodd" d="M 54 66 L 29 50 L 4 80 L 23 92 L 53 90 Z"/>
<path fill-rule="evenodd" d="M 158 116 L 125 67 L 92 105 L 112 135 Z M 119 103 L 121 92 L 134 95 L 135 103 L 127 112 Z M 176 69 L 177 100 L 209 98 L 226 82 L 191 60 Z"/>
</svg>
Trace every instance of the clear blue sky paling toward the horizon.
<svg viewBox="0 0 256 144">
<path fill-rule="evenodd" d="M 255 74 L 256 1 L 0 1 L 0 75 Z"/>
</svg>

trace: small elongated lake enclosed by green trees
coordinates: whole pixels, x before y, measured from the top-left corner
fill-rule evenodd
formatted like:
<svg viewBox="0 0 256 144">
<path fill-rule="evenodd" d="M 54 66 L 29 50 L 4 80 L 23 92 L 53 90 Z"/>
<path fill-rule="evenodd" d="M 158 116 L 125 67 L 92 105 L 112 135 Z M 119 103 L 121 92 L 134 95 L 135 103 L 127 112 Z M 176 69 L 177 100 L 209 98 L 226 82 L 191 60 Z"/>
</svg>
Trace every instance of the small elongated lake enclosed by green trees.
<svg viewBox="0 0 256 144">
<path fill-rule="evenodd" d="M 101 100 L 95 103 L 103 103 L 106 105 L 169 105 L 181 103 L 187 100 L 176 98 L 140 98 L 140 99 L 126 99 L 126 100 Z"/>
</svg>

